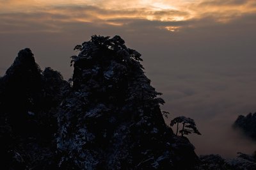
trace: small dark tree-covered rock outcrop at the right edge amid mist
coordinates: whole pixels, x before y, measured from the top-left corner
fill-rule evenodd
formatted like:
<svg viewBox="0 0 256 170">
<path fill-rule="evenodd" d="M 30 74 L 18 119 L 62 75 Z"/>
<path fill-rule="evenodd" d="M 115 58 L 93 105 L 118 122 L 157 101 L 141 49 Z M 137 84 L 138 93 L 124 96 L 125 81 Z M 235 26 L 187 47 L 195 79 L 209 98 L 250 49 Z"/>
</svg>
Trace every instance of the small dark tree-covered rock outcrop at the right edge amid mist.
<svg viewBox="0 0 256 170">
<path fill-rule="evenodd" d="M 233 127 L 240 128 L 245 135 L 256 140 L 256 113 L 250 112 L 247 116 L 238 116 Z"/>
</svg>

